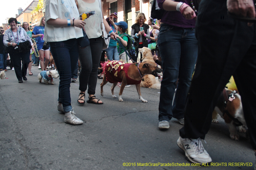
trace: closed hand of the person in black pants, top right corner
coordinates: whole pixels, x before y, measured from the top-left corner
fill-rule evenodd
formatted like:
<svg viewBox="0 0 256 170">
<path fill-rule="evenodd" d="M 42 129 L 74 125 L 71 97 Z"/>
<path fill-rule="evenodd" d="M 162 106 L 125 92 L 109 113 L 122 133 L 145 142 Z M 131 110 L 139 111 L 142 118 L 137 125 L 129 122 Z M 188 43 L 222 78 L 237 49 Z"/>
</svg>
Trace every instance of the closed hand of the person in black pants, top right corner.
<svg viewBox="0 0 256 170">
<path fill-rule="evenodd" d="M 252 0 L 227 0 L 227 10 L 235 15 L 255 18 L 255 7 Z M 248 23 L 252 26 L 253 23 Z"/>
</svg>

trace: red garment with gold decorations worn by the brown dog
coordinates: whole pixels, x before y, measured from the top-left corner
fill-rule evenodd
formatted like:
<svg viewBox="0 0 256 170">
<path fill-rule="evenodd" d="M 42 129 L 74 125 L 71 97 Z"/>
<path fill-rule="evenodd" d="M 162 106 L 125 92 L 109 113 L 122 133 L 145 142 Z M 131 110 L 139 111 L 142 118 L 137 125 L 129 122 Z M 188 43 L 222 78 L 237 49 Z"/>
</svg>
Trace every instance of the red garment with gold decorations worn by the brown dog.
<svg viewBox="0 0 256 170">
<path fill-rule="evenodd" d="M 128 76 L 128 69 L 131 64 L 133 63 L 124 63 L 115 60 L 108 62 L 105 67 L 106 80 L 109 83 L 122 82 L 120 71 L 125 71 L 127 84 L 140 84 L 141 80 L 133 80 Z"/>
</svg>

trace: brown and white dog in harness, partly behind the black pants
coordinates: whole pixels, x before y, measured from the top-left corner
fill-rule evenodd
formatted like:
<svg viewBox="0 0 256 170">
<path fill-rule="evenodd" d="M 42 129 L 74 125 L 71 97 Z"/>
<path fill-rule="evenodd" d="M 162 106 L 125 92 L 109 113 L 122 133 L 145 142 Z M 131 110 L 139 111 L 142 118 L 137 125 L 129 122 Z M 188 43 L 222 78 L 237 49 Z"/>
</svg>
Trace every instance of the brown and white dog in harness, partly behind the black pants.
<svg viewBox="0 0 256 170">
<path fill-rule="evenodd" d="M 231 98 L 233 96 L 234 99 L 231 99 L 232 101 L 228 100 L 229 96 L 231 96 Z M 246 123 L 239 93 L 234 93 L 234 91 L 225 88 L 219 96 L 218 103 L 212 113 L 213 123 L 218 123 L 217 114 L 225 120 L 229 128 L 230 138 L 238 141 L 239 134 L 237 130 L 241 133 L 246 132 Z"/>
</svg>

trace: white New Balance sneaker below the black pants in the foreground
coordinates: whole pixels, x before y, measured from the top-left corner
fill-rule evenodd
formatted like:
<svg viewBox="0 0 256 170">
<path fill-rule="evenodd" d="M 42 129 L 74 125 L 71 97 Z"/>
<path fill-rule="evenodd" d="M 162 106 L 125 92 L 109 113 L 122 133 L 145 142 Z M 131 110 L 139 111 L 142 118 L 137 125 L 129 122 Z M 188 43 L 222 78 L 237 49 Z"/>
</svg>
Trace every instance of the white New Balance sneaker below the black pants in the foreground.
<svg viewBox="0 0 256 170">
<path fill-rule="evenodd" d="M 211 162 L 211 157 L 204 149 L 201 139 L 178 138 L 178 147 L 185 151 L 186 157 L 193 163 Z"/>
</svg>

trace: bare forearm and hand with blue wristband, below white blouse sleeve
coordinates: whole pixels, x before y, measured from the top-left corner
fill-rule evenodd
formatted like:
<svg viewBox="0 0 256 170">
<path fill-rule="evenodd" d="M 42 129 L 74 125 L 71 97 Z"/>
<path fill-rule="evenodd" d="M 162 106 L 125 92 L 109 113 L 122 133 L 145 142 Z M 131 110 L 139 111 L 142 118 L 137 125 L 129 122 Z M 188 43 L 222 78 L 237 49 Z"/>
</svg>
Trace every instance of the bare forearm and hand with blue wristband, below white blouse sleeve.
<svg viewBox="0 0 256 170">
<path fill-rule="evenodd" d="M 68 20 L 65 19 L 49 19 L 48 21 L 46 21 L 47 24 L 49 25 L 53 25 L 54 27 L 72 27 L 73 25 L 73 20 L 70 20 L 70 26 L 68 26 Z M 78 28 L 83 28 L 85 21 L 83 20 L 74 20 L 74 27 L 78 27 Z"/>
</svg>

